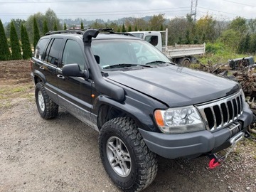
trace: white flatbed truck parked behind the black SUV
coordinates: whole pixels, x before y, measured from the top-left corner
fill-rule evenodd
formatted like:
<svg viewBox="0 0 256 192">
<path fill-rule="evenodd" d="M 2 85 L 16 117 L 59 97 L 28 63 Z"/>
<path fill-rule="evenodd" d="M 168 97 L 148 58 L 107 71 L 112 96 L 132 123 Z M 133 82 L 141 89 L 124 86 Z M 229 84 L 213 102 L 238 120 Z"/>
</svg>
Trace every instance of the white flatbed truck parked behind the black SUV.
<svg viewBox="0 0 256 192">
<path fill-rule="evenodd" d="M 168 45 L 168 28 L 166 31 L 132 31 L 132 35 L 148 41 L 161 50 L 174 63 L 188 66 L 196 62 L 193 55 L 203 55 L 206 52 L 206 43 L 195 45 Z"/>
</svg>

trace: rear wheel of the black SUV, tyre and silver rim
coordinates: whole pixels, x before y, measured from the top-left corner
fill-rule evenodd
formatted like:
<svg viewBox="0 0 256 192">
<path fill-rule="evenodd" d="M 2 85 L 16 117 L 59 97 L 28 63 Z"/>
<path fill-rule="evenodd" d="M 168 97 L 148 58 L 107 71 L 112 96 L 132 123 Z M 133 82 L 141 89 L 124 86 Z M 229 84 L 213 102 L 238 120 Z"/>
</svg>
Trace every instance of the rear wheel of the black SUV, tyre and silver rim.
<svg viewBox="0 0 256 192">
<path fill-rule="evenodd" d="M 36 106 L 43 119 L 52 119 L 58 115 L 58 105 L 46 93 L 43 82 L 36 84 Z"/>
</svg>

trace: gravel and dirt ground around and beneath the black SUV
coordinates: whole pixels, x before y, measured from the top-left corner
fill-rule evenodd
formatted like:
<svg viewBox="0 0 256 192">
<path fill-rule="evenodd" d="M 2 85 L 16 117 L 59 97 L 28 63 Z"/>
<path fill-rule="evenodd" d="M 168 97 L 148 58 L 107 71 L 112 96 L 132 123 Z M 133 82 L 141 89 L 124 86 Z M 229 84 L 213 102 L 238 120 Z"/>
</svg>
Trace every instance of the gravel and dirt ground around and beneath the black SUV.
<svg viewBox="0 0 256 192">
<path fill-rule="evenodd" d="M 0 191 L 119 191 L 100 161 L 98 133 L 60 109 L 40 117 L 29 60 L 0 61 Z M 164 159 L 144 191 L 256 191 L 256 144 L 247 139 L 224 164 Z"/>
</svg>

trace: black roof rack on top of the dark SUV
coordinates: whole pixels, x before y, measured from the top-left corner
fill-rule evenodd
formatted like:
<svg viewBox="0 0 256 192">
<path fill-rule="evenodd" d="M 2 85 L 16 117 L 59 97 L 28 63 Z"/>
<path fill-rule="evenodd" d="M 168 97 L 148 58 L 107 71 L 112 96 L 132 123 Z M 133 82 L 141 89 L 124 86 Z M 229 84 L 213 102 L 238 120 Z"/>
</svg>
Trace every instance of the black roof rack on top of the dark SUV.
<svg viewBox="0 0 256 192">
<path fill-rule="evenodd" d="M 118 34 L 118 35 L 124 35 L 124 36 L 134 36 L 134 35 L 132 35 L 132 33 L 129 33 L 129 32 L 114 32 L 113 28 L 87 28 L 87 29 L 95 29 L 97 31 L 100 31 L 100 33 L 110 33 L 110 34 Z M 83 33 L 85 33 L 85 31 L 87 29 L 85 29 L 85 30 L 66 29 L 66 30 L 62 30 L 62 31 L 49 31 L 46 33 L 46 36 L 53 35 L 53 34 L 60 34 L 60 33 L 77 33 L 77 34 L 82 35 Z"/>
</svg>

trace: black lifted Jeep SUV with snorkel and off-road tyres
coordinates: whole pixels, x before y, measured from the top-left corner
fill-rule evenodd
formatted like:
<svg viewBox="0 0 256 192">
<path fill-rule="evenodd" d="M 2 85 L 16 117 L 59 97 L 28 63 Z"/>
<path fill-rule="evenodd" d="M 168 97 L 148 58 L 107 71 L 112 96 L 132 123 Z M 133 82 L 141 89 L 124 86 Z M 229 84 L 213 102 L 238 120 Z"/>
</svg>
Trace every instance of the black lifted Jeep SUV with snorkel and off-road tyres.
<svg viewBox="0 0 256 192">
<path fill-rule="evenodd" d="M 31 59 L 44 119 L 58 106 L 100 132 L 102 164 L 124 191 L 141 191 L 169 159 L 210 157 L 214 168 L 252 122 L 237 82 L 181 68 L 127 34 L 53 31 Z"/>
</svg>

